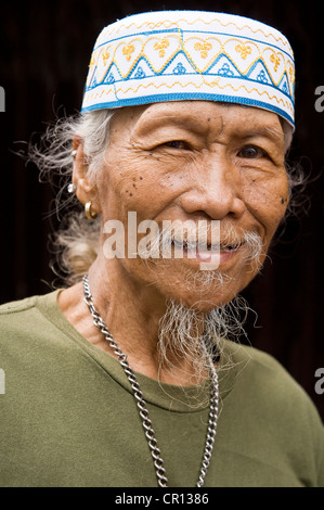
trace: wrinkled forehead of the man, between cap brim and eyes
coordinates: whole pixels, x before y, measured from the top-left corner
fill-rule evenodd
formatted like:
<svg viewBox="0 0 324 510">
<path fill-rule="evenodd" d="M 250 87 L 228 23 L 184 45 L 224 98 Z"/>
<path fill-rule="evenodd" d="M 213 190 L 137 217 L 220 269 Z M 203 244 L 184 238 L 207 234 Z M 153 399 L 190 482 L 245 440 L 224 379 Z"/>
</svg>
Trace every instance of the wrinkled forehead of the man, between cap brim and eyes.
<svg viewBox="0 0 324 510">
<path fill-rule="evenodd" d="M 111 141 L 118 140 L 121 132 L 132 139 L 150 138 L 161 131 L 176 138 L 190 132 L 216 137 L 215 140 L 218 136 L 232 139 L 265 136 L 284 151 L 289 142 L 286 135 L 291 132 L 291 127 L 277 114 L 254 106 L 202 100 L 167 101 L 115 110 Z"/>
</svg>

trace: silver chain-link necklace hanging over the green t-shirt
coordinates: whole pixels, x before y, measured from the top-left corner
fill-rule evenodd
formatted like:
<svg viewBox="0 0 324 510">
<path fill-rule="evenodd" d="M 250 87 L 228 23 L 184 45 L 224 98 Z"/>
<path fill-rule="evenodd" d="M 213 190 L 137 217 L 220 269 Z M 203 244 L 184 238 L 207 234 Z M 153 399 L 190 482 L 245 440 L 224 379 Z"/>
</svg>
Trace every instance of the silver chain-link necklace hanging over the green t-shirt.
<svg viewBox="0 0 324 510">
<path fill-rule="evenodd" d="M 83 294 L 85 294 L 85 302 L 89 307 L 90 314 L 93 318 L 93 323 L 101 330 L 101 332 L 104 334 L 106 341 L 109 343 L 111 347 L 114 349 L 114 353 L 118 357 L 118 361 L 120 362 L 127 379 L 131 385 L 131 388 L 133 391 L 133 396 L 135 398 L 139 411 L 140 411 L 140 417 L 142 419 L 142 425 L 145 432 L 145 436 L 147 439 L 147 444 L 151 450 L 151 455 L 154 461 L 155 466 L 155 472 L 156 472 L 156 477 L 157 477 L 157 483 L 160 487 L 167 487 L 168 486 L 168 479 L 166 476 L 166 470 L 164 468 L 164 461 L 160 456 L 160 450 L 157 446 L 157 441 L 155 437 L 155 432 L 152 426 L 152 421 L 150 419 L 148 410 L 146 403 L 143 397 L 143 393 L 141 391 L 140 384 L 137 380 L 137 377 L 133 372 L 133 370 L 130 368 L 128 360 L 127 360 L 127 355 L 122 353 L 120 347 L 118 346 L 117 342 L 114 340 L 114 336 L 109 332 L 108 328 L 106 327 L 105 322 L 101 318 L 99 311 L 94 307 L 90 286 L 89 286 L 89 280 L 88 280 L 88 275 L 86 275 L 82 279 L 83 282 Z M 218 375 L 212 362 L 212 359 L 210 358 L 210 371 L 211 371 L 211 387 L 210 387 L 210 404 L 209 404 L 209 420 L 208 420 L 208 426 L 207 426 L 207 436 L 206 436 L 206 443 L 205 443 L 205 451 L 204 451 L 204 457 L 203 457 L 203 462 L 202 462 L 202 468 L 199 472 L 199 479 L 196 484 L 197 487 L 203 487 L 205 483 L 205 477 L 209 468 L 210 459 L 211 459 L 211 454 L 212 454 L 212 448 L 213 448 L 213 443 L 215 443 L 215 436 L 216 436 L 216 429 L 217 429 L 217 420 L 218 420 L 218 404 L 219 404 L 219 385 L 218 385 Z"/>
</svg>

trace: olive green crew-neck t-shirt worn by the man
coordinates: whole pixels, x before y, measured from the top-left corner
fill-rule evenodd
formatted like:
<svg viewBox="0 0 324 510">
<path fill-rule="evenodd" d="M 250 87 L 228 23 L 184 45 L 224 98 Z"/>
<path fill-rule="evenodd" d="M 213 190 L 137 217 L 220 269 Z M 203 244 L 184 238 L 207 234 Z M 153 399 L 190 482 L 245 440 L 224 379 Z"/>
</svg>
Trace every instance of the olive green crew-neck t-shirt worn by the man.
<svg viewBox="0 0 324 510">
<path fill-rule="evenodd" d="M 81 336 L 57 292 L 0 307 L 0 486 L 155 487 L 118 360 Z M 196 485 L 209 390 L 137 374 L 170 487 Z M 225 343 L 207 487 L 324 486 L 324 433 L 303 390 L 269 355 Z"/>
</svg>

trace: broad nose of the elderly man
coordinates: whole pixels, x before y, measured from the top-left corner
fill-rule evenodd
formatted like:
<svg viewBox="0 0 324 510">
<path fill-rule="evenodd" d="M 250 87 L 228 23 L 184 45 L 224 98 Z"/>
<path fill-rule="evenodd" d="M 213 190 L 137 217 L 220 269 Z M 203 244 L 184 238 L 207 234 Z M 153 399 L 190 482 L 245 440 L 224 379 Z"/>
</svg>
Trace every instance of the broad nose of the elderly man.
<svg viewBox="0 0 324 510">
<path fill-rule="evenodd" d="M 239 169 L 218 157 L 191 175 L 191 188 L 182 195 L 181 205 L 187 214 L 239 219 L 246 209 L 243 193 Z"/>
</svg>

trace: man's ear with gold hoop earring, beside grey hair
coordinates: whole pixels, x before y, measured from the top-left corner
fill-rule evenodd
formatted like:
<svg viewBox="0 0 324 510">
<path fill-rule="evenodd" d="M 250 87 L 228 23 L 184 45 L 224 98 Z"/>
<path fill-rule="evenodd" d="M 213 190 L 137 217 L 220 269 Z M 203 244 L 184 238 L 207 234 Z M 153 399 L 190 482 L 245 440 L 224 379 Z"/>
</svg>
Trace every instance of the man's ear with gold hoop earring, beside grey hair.
<svg viewBox="0 0 324 510">
<path fill-rule="evenodd" d="M 91 209 L 93 213 L 100 213 L 100 206 L 96 200 L 96 187 L 89 178 L 89 163 L 83 150 L 83 143 L 79 138 L 75 138 L 73 142 L 74 150 L 74 168 L 73 183 L 76 187 L 76 196 L 86 205 L 91 201 Z"/>
</svg>

